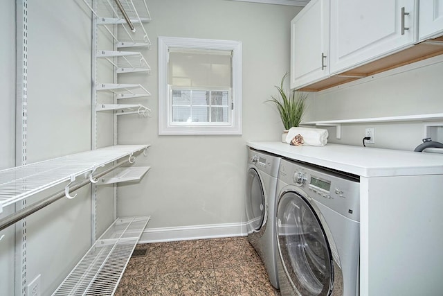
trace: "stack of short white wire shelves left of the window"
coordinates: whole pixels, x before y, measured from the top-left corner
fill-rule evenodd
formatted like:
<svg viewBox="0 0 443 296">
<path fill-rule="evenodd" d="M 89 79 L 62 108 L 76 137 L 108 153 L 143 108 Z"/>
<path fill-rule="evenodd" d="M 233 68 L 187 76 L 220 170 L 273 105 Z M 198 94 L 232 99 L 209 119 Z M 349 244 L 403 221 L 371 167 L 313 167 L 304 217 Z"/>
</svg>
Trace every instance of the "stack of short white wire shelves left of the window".
<svg viewBox="0 0 443 296">
<path fill-rule="evenodd" d="M 83 0 L 87 4 L 96 27 L 104 29 L 105 35 L 114 40 L 114 49 L 98 49 L 93 52 L 94 60 L 107 60 L 114 67 L 116 79 L 120 74 L 144 72 L 150 73 L 151 67 L 143 54 L 138 51 L 127 51 L 132 48 L 151 46 L 144 24 L 151 20 L 150 11 L 145 0 Z M 119 51 L 125 49 L 125 51 Z M 96 67 L 98 64 L 96 64 Z M 122 98 L 141 98 L 151 96 L 140 84 L 119 84 L 98 82 L 96 92 L 110 92 L 115 100 Z M 98 98 L 98 96 L 96 96 Z M 136 109 L 134 109 L 136 108 Z M 96 111 L 112 110 L 116 115 L 139 114 L 149 116 L 151 110 L 144 105 L 129 105 L 114 102 L 102 104 L 96 102 Z"/>
</svg>

